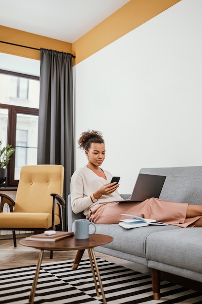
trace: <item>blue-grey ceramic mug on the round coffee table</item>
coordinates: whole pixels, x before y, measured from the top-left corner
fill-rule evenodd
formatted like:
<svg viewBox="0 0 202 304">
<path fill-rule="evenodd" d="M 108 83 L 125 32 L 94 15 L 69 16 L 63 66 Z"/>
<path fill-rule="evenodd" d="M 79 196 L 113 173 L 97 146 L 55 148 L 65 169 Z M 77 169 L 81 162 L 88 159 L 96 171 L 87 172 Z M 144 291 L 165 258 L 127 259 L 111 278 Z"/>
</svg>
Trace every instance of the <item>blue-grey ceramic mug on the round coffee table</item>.
<svg viewBox="0 0 202 304">
<path fill-rule="evenodd" d="M 74 222 L 75 225 L 75 238 L 78 239 L 85 239 L 85 238 L 89 238 L 89 235 L 93 235 L 96 232 L 96 227 L 95 224 L 92 223 L 89 220 L 86 219 L 80 219 L 80 220 L 75 220 Z M 89 226 L 93 225 L 94 226 L 94 232 L 93 233 L 89 233 Z"/>
</svg>

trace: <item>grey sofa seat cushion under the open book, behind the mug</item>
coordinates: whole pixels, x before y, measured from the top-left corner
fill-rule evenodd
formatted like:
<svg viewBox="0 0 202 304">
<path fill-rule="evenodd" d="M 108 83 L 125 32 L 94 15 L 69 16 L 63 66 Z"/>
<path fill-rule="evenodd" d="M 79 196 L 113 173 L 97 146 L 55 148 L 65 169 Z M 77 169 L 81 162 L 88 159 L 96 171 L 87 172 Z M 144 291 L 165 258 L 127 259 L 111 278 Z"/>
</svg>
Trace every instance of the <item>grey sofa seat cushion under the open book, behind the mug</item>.
<svg viewBox="0 0 202 304">
<path fill-rule="evenodd" d="M 90 225 L 91 232 L 93 232 L 93 228 Z M 144 258 L 146 256 L 146 239 L 150 234 L 155 234 L 158 231 L 164 233 L 167 230 L 177 229 L 182 228 L 170 225 L 124 229 L 118 224 L 96 224 L 96 233 L 113 237 L 113 241 L 104 245 L 104 247 Z"/>
</svg>

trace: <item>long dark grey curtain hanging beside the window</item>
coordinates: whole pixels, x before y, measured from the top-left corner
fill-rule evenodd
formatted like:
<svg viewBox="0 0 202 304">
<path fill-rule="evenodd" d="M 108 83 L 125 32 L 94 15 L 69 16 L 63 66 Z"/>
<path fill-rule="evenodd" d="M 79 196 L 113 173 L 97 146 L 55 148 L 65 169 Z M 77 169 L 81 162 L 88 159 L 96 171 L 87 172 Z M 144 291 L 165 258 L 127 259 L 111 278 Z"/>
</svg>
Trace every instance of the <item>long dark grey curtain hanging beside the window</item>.
<svg viewBox="0 0 202 304">
<path fill-rule="evenodd" d="M 38 164 L 64 167 L 64 199 L 74 170 L 72 54 L 41 49 Z M 63 213 L 67 230 L 67 206 Z"/>
</svg>

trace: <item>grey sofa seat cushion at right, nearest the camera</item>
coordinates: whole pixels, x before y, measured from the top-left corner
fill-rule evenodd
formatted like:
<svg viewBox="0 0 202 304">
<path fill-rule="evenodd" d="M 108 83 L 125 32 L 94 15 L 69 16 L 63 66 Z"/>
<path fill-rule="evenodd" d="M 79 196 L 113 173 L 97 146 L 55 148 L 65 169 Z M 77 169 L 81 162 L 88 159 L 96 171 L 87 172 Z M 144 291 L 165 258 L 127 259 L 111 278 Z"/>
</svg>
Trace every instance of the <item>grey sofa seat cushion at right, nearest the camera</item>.
<svg viewBox="0 0 202 304">
<path fill-rule="evenodd" d="M 159 231 L 147 237 L 146 258 L 151 268 L 187 277 L 200 274 L 202 282 L 202 228 Z M 188 271 L 186 271 L 188 270 Z M 199 277 L 188 277 L 199 280 Z"/>
</svg>

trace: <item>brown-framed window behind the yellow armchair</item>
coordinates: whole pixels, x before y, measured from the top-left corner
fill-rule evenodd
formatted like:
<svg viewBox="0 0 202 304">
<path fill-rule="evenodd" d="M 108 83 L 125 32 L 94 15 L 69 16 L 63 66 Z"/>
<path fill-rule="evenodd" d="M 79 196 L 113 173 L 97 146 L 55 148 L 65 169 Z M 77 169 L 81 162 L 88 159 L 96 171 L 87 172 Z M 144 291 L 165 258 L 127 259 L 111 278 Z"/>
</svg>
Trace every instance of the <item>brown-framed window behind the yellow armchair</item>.
<svg viewBox="0 0 202 304">
<path fill-rule="evenodd" d="M 17 186 L 20 169 L 37 164 L 39 77 L 0 70 L 0 139 L 16 152 L 6 186 Z"/>
</svg>

